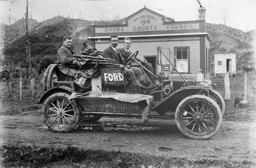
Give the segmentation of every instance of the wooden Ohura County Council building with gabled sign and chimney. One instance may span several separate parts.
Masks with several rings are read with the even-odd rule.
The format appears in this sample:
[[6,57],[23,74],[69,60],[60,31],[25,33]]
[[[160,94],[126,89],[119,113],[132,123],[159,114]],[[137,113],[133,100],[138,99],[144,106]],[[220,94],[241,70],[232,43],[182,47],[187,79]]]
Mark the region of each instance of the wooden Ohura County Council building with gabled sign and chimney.
[[[177,57],[170,55],[172,64],[179,72],[210,73],[210,39],[205,32],[205,8],[199,8],[199,20],[178,21],[165,17],[146,6],[127,17],[121,25],[91,25],[92,47],[103,51],[109,44],[109,37],[119,37],[117,48],[123,47],[123,39],[132,39],[130,51],[139,50],[140,59],[152,63],[155,74],[161,72],[157,64],[157,47],[170,48]],[[180,65],[178,64],[180,62]],[[172,67],[170,67],[172,69]]]

